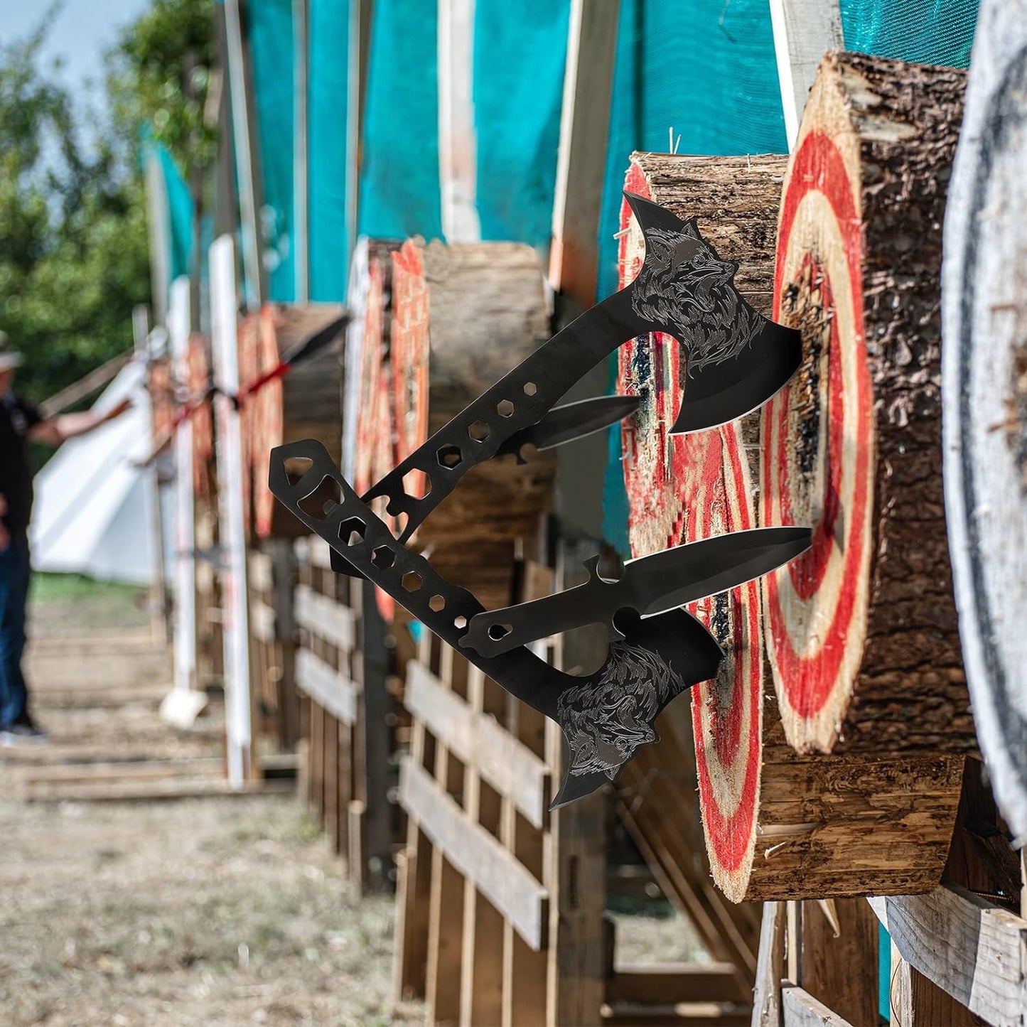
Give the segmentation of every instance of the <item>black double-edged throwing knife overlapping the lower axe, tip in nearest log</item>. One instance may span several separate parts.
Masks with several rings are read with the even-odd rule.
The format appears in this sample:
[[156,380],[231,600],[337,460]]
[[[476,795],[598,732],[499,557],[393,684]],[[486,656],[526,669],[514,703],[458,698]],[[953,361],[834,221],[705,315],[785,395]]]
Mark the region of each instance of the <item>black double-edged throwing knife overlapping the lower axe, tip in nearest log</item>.
[[480,613],[471,618],[460,645],[483,656],[498,656],[584,624],[605,624],[610,641],[620,641],[620,611],[650,617],[733,588],[798,557],[811,539],[809,528],[732,532],[630,560],[619,580],[602,577],[599,557],[594,557],[585,563],[584,584]]

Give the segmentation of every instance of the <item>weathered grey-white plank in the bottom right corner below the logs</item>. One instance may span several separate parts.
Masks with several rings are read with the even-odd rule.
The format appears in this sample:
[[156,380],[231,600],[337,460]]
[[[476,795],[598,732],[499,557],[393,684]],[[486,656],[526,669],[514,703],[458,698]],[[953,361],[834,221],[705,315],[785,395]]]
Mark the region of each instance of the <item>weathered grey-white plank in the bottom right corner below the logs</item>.
[[1027,920],[957,884],[869,899],[902,958],[989,1023],[1027,1009]]

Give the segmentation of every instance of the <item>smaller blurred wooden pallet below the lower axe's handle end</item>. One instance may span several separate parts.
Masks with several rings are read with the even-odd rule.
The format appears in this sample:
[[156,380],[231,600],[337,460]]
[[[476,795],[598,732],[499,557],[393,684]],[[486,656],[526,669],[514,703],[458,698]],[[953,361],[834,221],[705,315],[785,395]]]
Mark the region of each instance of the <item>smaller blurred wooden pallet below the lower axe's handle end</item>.
[[320,539],[297,540],[296,554],[301,777],[311,808],[346,861],[351,887],[362,895],[386,884],[392,862],[384,640],[373,601],[365,602],[366,582],[336,574]]

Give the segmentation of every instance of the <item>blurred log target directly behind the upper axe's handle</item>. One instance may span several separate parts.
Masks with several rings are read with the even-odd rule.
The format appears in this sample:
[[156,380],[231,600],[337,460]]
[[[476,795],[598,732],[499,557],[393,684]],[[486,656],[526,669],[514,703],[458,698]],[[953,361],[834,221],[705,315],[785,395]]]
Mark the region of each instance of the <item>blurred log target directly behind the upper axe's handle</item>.
[[[392,255],[395,460],[406,459],[547,337],[542,276],[530,246],[405,242]],[[551,455],[539,454],[527,464],[506,457],[473,468],[418,529],[415,543],[430,553],[441,574],[485,606],[505,605],[515,540],[536,536],[549,508],[554,466]],[[407,492],[424,495],[425,476],[412,476]]]

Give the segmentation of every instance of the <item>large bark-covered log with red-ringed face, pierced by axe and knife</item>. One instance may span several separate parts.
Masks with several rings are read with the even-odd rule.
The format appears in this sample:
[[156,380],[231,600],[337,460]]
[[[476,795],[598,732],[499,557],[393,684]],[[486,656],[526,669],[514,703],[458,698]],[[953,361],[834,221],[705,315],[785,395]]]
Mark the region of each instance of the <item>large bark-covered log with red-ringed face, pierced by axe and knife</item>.
[[766,579],[785,733],[803,753],[977,743],[941,477],[941,224],[962,72],[831,53],[785,183],[774,316],[804,362],[764,409],[762,521],[814,526]]

